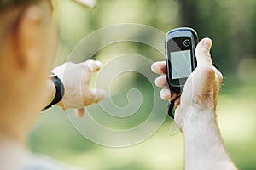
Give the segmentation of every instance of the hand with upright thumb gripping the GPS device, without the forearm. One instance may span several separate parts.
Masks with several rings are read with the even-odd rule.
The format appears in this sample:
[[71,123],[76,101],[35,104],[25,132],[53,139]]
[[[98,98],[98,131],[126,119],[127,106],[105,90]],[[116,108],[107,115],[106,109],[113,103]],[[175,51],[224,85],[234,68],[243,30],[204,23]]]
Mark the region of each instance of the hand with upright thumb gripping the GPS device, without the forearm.
[[[192,112],[211,111],[214,118],[218,98],[218,91],[222,82],[222,74],[212,65],[210,49],[212,41],[204,38],[195,48],[197,67],[191,73],[180,99],[175,101],[175,122],[182,128],[185,121],[189,121]],[[166,82],[166,61],[155,62],[152,71],[160,74],[156,78],[155,85],[161,87],[160,97],[164,100],[172,100],[177,97],[171,92]],[[188,119],[188,120],[187,120]]]

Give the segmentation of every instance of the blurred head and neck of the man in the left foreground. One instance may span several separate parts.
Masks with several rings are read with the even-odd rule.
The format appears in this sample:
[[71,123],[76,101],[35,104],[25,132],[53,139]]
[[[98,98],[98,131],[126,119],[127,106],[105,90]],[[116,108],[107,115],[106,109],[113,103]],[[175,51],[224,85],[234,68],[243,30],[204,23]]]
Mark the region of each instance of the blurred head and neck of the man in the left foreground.
[[0,133],[22,139],[43,105],[55,55],[52,6],[48,0],[0,3]]

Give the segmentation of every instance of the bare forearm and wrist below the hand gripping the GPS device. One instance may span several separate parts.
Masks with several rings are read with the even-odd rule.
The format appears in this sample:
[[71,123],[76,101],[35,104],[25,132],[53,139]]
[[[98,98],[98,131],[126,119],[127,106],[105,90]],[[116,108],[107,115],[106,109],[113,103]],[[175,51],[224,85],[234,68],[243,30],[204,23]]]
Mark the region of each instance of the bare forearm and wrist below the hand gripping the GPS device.
[[224,149],[214,111],[190,111],[183,124],[186,170],[235,170]]

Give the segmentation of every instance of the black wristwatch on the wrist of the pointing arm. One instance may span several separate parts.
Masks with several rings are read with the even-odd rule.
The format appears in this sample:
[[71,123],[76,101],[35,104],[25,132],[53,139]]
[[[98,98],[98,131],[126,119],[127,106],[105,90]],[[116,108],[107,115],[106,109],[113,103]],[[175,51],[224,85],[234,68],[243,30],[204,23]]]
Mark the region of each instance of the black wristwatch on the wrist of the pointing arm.
[[51,74],[49,76],[49,78],[55,84],[55,89],[56,89],[55,90],[55,98],[52,100],[52,102],[49,105],[44,107],[44,110],[49,109],[52,105],[59,103],[65,94],[64,85],[61,82],[61,79],[59,77],[57,77],[57,75],[55,75],[55,74]]

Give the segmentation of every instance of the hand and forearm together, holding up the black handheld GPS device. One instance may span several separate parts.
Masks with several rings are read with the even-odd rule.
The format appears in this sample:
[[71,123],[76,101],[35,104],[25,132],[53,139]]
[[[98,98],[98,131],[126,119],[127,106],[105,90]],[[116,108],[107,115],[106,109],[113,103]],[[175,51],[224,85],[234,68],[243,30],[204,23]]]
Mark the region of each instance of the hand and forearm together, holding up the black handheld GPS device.
[[[175,102],[175,122],[184,136],[185,169],[235,170],[236,167],[224,149],[216,122],[218,90],[221,73],[212,66],[212,41],[202,39],[195,49],[197,68],[188,78],[180,99]],[[160,97],[173,100],[166,82],[166,62],[156,62],[152,71],[160,74],[155,85],[161,87]]]

